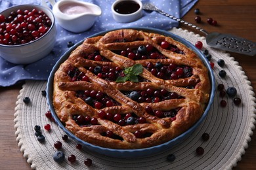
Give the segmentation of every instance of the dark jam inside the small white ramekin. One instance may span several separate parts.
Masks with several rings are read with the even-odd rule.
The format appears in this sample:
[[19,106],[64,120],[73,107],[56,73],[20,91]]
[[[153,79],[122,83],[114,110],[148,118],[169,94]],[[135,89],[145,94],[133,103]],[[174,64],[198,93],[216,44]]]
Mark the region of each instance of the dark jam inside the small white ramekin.
[[119,14],[131,14],[139,9],[140,5],[135,1],[121,1],[114,7],[114,10]]

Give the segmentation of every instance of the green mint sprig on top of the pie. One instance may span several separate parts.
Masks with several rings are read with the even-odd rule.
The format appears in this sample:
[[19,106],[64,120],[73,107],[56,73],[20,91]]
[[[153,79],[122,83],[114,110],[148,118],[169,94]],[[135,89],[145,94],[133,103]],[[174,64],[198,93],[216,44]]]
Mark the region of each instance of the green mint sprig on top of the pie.
[[142,71],[143,67],[140,64],[135,64],[132,67],[127,67],[123,71],[123,73],[125,73],[125,76],[118,76],[116,82],[139,82],[138,76],[140,75],[140,73],[142,73]]

